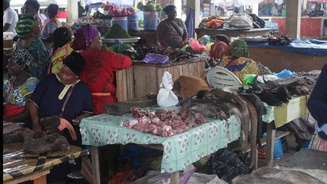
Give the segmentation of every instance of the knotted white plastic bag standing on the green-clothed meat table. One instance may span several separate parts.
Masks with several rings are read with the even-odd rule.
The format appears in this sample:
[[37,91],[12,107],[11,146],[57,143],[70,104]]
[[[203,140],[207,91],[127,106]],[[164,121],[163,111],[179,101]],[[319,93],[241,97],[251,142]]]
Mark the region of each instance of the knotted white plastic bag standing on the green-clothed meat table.
[[165,71],[163,74],[163,82],[160,84],[161,88],[157,95],[157,104],[160,107],[169,107],[177,105],[178,98],[177,96],[171,91],[173,89],[173,79],[169,72]]

